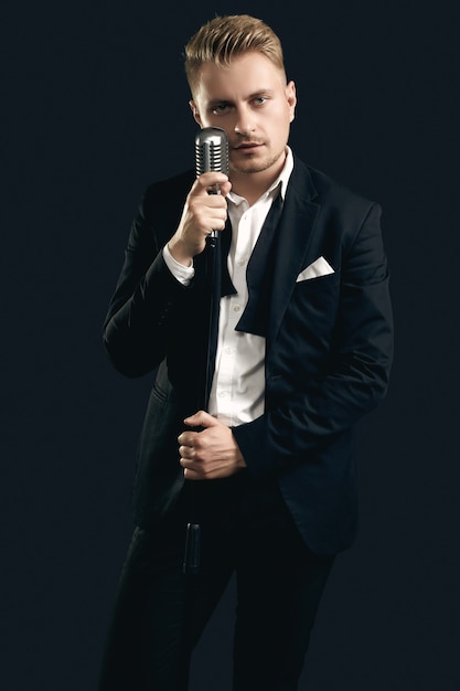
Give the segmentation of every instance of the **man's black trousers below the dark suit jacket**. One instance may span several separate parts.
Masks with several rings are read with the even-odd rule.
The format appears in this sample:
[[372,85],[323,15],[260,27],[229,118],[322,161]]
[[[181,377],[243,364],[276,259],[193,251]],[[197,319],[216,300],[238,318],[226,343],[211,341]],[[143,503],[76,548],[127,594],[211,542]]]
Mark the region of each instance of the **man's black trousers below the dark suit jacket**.
[[191,650],[234,570],[233,689],[295,691],[334,557],[307,548],[275,483],[255,483],[243,472],[193,485],[200,485],[192,488],[200,573],[183,574],[185,517],[161,531],[135,530],[99,691],[185,691]]

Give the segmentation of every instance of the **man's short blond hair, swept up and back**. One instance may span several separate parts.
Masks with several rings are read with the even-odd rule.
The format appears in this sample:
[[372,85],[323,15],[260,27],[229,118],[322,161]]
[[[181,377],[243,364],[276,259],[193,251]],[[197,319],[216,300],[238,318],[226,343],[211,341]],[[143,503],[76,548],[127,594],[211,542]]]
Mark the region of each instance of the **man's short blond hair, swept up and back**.
[[260,19],[229,14],[203,24],[185,45],[185,74],[192,94],[196,91],[203,63],[225,67],[234,57],[248,52],[268,57],[286,78],[281,42]]

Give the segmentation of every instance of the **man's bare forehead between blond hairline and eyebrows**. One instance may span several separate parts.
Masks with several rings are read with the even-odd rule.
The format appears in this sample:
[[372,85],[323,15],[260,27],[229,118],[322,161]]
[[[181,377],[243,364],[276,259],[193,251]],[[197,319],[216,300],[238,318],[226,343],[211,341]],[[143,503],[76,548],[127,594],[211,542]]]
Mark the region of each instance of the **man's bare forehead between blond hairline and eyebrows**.
[[200,68],[195,96],[200,99],[232,99],[260,91],[284,91],[284,71],[261,53],[245,53],[229,65],[204,63]]

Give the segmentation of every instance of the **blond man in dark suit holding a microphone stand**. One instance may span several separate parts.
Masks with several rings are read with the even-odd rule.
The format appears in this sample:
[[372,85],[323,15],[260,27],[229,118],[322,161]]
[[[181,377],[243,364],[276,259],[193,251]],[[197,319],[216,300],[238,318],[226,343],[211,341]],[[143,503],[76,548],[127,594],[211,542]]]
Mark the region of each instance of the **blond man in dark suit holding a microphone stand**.
[[[295,690],[334,555],[355,534],[353,427],[387,386],[379,206],[293,156],[296,88],[264,22],[212,20],[185,68],[193,117],[227,132],[231,170],[148,188],[108,310],[115,366],[158,371],[99,689],[186,688],[190,650],[236,570],[233,688]],[[196,519],[201,565],[189,576]]]

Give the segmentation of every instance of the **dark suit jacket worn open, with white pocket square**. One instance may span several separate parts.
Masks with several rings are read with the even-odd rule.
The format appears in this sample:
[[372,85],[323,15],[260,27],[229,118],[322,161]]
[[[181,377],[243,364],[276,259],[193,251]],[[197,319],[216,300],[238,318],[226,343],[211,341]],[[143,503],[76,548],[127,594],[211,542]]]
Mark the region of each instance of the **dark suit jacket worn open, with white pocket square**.
[[[184,287],[161,252],[193,179],[189,171],[147,189],[104,330],[120,372],[139,376],[158,368],[133,491],[135,520],[145,528],[168,517],[178,501],[184,480],[176,437],[202,389],[205,254],[195,257],[195,278]],[[387,387],[393,327],[379,217],[378,204],[296,158],[276,233],[270,295],[266,281],[260,295],[264,281],[255,279],[264,257],[252,259],[249,301],[237,327],[252,331],[260,300],[269,299],[265,413],[234,435],[247,472],[276,478],[306,542],[319,553],[336,553],[354,539],[353,428]],[[319,257],[333,273],[299,279]]]

